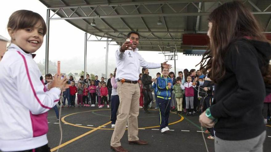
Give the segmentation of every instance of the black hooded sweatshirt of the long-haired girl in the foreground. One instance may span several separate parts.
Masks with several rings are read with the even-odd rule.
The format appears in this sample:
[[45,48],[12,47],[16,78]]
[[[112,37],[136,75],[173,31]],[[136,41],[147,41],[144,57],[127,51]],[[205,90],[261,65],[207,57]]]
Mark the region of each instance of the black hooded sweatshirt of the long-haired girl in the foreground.
[[271,58],[267,42],[240,39],[229,46],[224,58],[225,76],[215,86],[211,115],[218,119],[216,136],[223,140],[245,140],[265,131],[262,116],[265,85],[261,67]]

